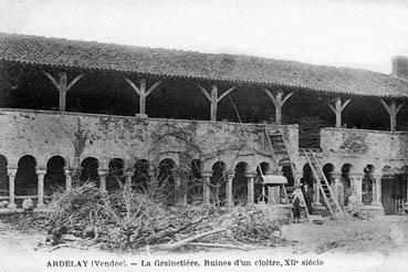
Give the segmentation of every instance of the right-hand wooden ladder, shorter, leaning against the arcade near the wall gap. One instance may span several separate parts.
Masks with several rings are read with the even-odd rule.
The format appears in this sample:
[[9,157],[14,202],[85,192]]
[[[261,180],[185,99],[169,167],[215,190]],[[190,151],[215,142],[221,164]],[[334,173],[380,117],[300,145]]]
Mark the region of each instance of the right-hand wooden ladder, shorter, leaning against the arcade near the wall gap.
[[313,176],[317,182],[318,190],[322,192],[324,202],[332,217],[343,216],[343,211],[338,205],[337,198],[334,196],[332,188],[323,172],[323,168],[317,160],[316,155],[311,149],[303,149],[307,164],[310,165]]

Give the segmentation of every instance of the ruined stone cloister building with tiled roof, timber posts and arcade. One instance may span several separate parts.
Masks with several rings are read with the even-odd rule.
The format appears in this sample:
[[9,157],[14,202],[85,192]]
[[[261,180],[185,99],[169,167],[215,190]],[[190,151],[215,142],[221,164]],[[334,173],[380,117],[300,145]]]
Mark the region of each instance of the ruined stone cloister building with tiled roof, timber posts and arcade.
[[[114,174],[148,189],[180,167],[190,175],[171,181],[169,205],[211,202],[215,193],[224,206],[257,203],[262,174],[273,174],[287,188],[313,187],[318,209],[307,149],[335,196],[348,190],[376,215],[404,212],[408,59],[393,61],[386,75],[2,33],[1,209],[24,198],[43,209],[54,187],[79,180],[111,190]],[[287,157],[270,135],[281,136]],[[198,186],[180,192],[189,180]],[[279,189],[268,195],[271,206],[284,205]]]

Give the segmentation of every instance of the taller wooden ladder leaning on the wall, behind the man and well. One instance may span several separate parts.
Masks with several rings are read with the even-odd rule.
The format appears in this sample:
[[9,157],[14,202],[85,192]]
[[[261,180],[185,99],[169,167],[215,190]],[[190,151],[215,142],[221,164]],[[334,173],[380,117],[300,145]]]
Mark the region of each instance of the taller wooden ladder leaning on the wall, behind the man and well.
[[[283,135],[281,132],[279,133],[273,133],[270,134],[268,133],[268,128],[265,127],[265,136],[268,138],[269,142],[269,146],[270,146],[270,150],[271,150],[271,155],[272,158],[275,163],[275,165],[279,166],[290,166],[291,170],[292,170],[292,175],[293,178],[296,178],[296,170],[294,168],[294,165],[292,164],[292,159],[291,156],[287,151],[287,144],[286,140],[284,139]],[[296,182],[296,181],[295,181]],[[293,202],[293,198],[291,198],[287,192],[286,192],[286,187],[284,185],[282,185],[282,191],[283,191],[283,196],[285,198],[286,203],[291,203]],[[305,215],[306,218],[308,218],[308,209],[306,206],[306,201],[304,199],[303,193],[302,196],[302,202],[303,202],[303,215]]]

